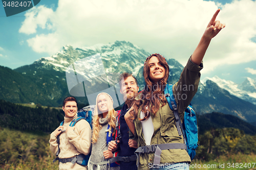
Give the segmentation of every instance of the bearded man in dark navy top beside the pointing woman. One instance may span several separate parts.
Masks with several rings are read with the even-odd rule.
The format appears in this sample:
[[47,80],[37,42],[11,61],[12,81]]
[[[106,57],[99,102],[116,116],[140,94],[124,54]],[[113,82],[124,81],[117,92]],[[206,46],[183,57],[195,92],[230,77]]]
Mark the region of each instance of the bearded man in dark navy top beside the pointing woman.
[[[124,72],[121,75],[121,79],[123,78],[124,81],[120,81],[120,92],[123,94],[123,99],[125,104],[123,105],[120,117],[119,117],[119,124],[120,124],[120,133],[121,139],[111,141],[109,143],[109,151],[119,151],[119,160],[120,160],[120,170],[137,170],[136,166],[136,155],[134,152],[138,148],[138,144],[135,140],[129,138],[129,127],[127,126],[124,115],[125,113],[132,107],[134,99],[138,95],[139,87],[137,84],[137,80],[132,74]],[[131,157],[132,156],[132,157]],[[128,159],[125,157],[129,157]]]

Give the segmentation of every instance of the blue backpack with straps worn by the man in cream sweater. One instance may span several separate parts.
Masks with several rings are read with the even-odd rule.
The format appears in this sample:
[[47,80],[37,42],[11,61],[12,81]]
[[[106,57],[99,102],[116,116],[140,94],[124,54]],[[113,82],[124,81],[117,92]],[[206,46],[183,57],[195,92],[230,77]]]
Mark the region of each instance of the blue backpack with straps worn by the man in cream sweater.
[[[92,116],[93,116],[92,113],[93,113],[93,111],[94,111],[94,105],[90,105],[90,106],[87,106],[87,107],[84,107],[84,108],[80,109],[79,111],[77,111],[77,117],[71,121],[69,126],[73,127],[73,126],[75,126],[75,124],[77,122],[79,122],[82,119],[85,119],[85,120],[87,120],[87,122],[90,124],[90,126],[92,128]],[[64,123],[64,120],[60,123],[60,126],[62,126],[63,123]],[[62,132],[65,132],[65,131],[62,131]],[[59,149],[59,141],[60,141],[59,140],[59,135],[57,136],[58,151],[56,153],[56,156],[58,156],[59,152],[60,152],[60,149]],[[78,163],[80,165],[87,165],[88,161],[89,161],[89,158],[90,158],[90,155],[91,155],[91,153],[89,153],[88,155],[80,154],[80,155],[74,156],[72,158],[65,158],[65,159],[60,159],[60,158],[57,157],[53,160],[53,163],[56,160],[58,160],[59,162],[62,162],[62,163],[71,162],[73,164]]]

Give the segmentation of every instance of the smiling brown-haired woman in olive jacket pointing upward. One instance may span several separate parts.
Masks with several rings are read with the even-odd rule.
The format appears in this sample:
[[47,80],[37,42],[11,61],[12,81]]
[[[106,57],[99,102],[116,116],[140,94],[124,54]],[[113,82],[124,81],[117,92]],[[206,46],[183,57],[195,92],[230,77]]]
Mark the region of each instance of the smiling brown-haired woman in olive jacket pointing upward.
[[[211,39],[225,28],[225,23],[216,20],[219,12],[220,9],[212,16],[196,50],[189,57],[179,81],[170,89],[177,106],[174,102],[169,105],[165,96],[170,94],[164,94],[169,76],[166,59],[160,54],[152,54],[146,58],[143,67],[146,86],[124,116],[138,142],[138,149],[135,151],[138,169],[152,168],[148,166],[150,164],[158,165],[157,167],[160,167],[158,170],[189,169],[188,163],[193,157],[190,158],[187,153],[187,142],[183,139],[180,130],[181,122],[185,109],[197,92],[200,70],[203,68],[202,60],[208,45]],[[179,89],[180,86],[193,88]],[[166,164],[172,164],[175,168],[164,166]]]

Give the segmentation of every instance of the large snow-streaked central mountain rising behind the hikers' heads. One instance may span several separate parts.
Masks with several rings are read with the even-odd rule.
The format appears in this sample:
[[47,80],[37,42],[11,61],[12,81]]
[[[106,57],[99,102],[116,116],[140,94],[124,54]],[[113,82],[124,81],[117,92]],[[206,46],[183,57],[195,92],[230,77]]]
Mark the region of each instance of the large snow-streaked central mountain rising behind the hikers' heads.
[[[100,55],[100,62],[95,62],[96,58],[92,57],[97,54]],[[83,74],[84,77],[93,75],[95,72],[90,71],[96,69],[98,71],[97,75],[106,74],[108,75],[108,80],[112,79],[115,73],[131,72],[137,78],[140,89],[143,89],[143,64],[149,55],[142,48],[126,41],[115,41],[114,43],[96,44],[75,49],[71,45],[66,45],[55,55],[42,57],[33,64],[16,68],[15,71],[30,76],[42,89],[47,89],[45,93],[47,93],[46,97],[49,100],[56,100],[60,99],[61,95],[69,95],[70,91],[67,87],[68,78],[66,75],[67,68],[71,68],[72,70],[75,68],[76,75]],[[88,60],[90,57],[92,58]],[[174,84],[179,80],[183,66],[175,59],[169,59],[167,62],[170,67],[168,82],[169,84]],[[102,68],[100,65],[103,65],[103,69],[99,69]],[[104,82],[105,79],[103,76],[97,76],[91,79],[89,83],[85,83],[84,86],[93,86],[98,89],[106,85]],[[72,83],[77,83],[76,79]],[[81,102],[84,103],[84,101]]]

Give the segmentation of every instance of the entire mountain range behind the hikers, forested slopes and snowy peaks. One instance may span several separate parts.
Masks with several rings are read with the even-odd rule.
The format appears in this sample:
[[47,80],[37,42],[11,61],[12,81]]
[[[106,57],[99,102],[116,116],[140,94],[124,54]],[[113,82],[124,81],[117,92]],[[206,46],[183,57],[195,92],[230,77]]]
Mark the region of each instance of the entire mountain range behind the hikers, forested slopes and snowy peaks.
[[[100,54],[101,62],[81,64],[89,56]],[[99,75],[113,77],[113,73],[132,72],[143,88],[143,63],[150,54],[142,48],[126,41],[115,41],[108,44],[97,44],[90,47],[73,48],[63,46],[60,52],[50,57],[43,57],[33,64],[18,67],[14,70],[0,66],[0,99],[13,103],[40,103],[45,106],[59,106],[62,100],[70,95],[67,85],[67,68],[72,68],[79,80],[79,70],[84,76],[100,66],[104,71]],[[80,69],[77,69],[76,65]],[[183,66],[175,59],[168,59],[169,84],[179,80]],[[100,65],[101,64],[101,65]],[[98,89],[105,84],[102,75],[92,79],[88,85]],[[81,81],[80,81],[81,82]],[[78,83],[78,82],[77,82]],[[82,84],[81,84],[82,85]],[[83,83],[86,87],[86,83]],[[247,122],[256,122],[256,83],[247,78],[242,84],[221,80],[218,77],[207,78],[199,85],[192,103],[196,112],[222,112],[242,118]],[[85,88],[88,94],[87,88]],[[87,96],[77,97],[79,103],[88,104]],[[82,97],[83,96],[83,97]]]

